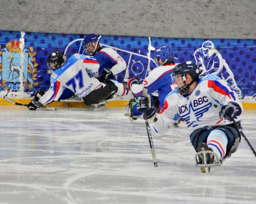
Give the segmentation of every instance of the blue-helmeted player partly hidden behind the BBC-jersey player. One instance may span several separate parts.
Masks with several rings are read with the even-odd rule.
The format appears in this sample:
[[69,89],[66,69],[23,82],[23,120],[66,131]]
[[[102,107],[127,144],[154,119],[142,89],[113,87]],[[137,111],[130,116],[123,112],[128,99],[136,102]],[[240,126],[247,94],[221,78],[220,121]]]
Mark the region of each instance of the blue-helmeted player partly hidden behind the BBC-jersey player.
[[[127,89],[132,92],[135,98],[142,95],[144,87],[148,88],[148,94],[158,91],[158,96],[152,96],[152,101],[156,112],[159,113],[163,107],[164,98],[169,94],[172,89],[172,69],[176,66],[173,62],[173,51],[170,46],[163,46],[156,49],[154,53],[154,60],[157,62],[158,67],[149,72],[148,76],[142,82],[136,78],[131,78],[127,82]],[[127,112],[129,113],[130,120],[136,120],[138,115],[142,115],[137,109],[136,99],[131,99],[129,104],[126,105]]]

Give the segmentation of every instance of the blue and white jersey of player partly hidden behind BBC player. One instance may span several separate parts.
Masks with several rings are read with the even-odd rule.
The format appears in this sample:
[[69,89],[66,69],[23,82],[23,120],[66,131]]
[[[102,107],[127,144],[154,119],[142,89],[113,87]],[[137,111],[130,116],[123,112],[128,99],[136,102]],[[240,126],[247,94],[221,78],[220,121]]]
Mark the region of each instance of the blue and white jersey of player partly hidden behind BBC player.
[[154,91],[158,91],[158,99],[160,108],[163,107],[163,101],[172,89],[172,69],[177,64],[168,64],[154,68],[149,72],[148,76],[142,82],[142,84],[132,84],[131,91],[136,98],[142,95],[144,87],[148,88],[148,93],[151,94]]

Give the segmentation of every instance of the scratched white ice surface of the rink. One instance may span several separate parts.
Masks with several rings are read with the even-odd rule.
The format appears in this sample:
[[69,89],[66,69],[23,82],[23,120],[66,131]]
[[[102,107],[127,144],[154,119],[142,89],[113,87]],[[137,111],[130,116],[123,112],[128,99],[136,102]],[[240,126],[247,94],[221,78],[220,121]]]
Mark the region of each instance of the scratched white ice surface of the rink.
[[[239,150],[205,175],[184,123],[152,133],[124,108],[56,112],[0,106],[0,203],[255,203],[256,157]],[[256,110],[243,132],[254,149]]]

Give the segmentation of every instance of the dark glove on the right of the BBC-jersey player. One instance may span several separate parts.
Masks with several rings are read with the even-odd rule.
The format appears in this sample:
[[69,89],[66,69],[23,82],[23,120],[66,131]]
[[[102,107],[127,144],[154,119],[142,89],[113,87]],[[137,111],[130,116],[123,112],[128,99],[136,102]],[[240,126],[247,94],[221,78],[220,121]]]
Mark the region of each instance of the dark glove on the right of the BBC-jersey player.
[[237,118],[238,115],[242,113],[240,106],[237,103],[230,103],[223,105],[220,110],[220,118],[226,118],[231,120],[231,118]]

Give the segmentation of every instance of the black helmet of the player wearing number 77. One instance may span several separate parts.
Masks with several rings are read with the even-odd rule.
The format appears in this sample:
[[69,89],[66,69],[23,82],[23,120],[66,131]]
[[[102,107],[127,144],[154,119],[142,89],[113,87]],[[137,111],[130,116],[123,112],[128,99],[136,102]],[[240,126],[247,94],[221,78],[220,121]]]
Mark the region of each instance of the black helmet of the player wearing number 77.
[[[64,53],[60,52],[59,50],[54,50],[51,52],[47,58],[47,67],[52,70],[56,70],[57,66],[61,66],[63,62],[66,61],[66,55]],[[57,62],[57,65],[55,65],[55,62]]]

